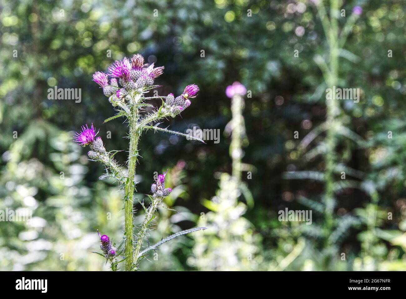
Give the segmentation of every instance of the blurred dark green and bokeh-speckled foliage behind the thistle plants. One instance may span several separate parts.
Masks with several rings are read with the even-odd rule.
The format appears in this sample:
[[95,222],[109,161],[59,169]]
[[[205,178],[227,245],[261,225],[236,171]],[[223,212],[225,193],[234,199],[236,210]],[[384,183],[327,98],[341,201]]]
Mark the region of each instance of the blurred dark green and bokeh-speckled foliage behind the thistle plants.
[[[313,58],[325,56],[328,47],[314,2],[1,0],[0,210],[29,208],[33,217],[30,223],[0,222],[0,270],[108,269],[90,251],[99,247],[97,229],[120,241],[122,194],[113,182],[98,180],[102,167],[90,163],[72,139],[82,124],[93,122],[108,150],[127,149],[125,124],[103,124],[113,111],[91,76],[137,52],[165,66],[158,93],[179,94],[191,83],[201,88],[181,118],[165,122],[174,130],[198,126],[225,132],[231,119],[225,88],[238,80],[251,91],[245,101],[243,161],[256,171],[251,179],[246,172],[242,178],[254,206],[242,213],[241,228],[250,227],[244,250],[254,257],[253,262],[233,260],[233,269],[405,270],[405,3],[340,3],[346,10],[340,28],[354,6],[363,8],[344,47],[348,52],[339,59],[344,87],[361,89],[359,103],[339,103],[340,122],[359,137],[339,139],[335,148],[337,165],[350,167],[347,176],[357,184],[337,188],[336,225],[326,246],[320,238],[324,219],[317,213],[323,182],[283,177],[286,171],[323,172],[326,163],[317,157],[323,133],[313,141],[313,156],[298,147],[326,119],[326,87]],[[54,86],[80,88],[81,102],[49,100],[48,88]],[[227,134],[218,144],[153,132],[143,137],[137,196],[145,197],[155,171],[169,169],[174,191],[165,204],[177,211],[160,210],[151,242],[195,226],[209,211],[206,199],[230,195],[225,191],[229,145]],[[125,152],[116,157],[123,161]],[[223,173],[220,187],[215,173]],[[313,225],[278,221],[279,210],[309,206]],[[158,260],[150,258],[142,268],[225,269],[210,268],[215,260],[203,266],[194,262],[199,238],[204,232],[166,243]],[[227,257],[227,242],[220,236],[205,246]]]

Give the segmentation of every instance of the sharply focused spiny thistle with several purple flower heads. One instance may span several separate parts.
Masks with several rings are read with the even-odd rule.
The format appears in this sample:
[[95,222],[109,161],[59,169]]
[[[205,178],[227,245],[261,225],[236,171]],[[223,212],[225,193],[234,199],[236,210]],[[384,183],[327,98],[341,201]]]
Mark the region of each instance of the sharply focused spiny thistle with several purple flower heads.
[[[148,231],[151,230],[153,220],[156,218],[155,212],[162,203],[162,200],[168,196],[172,189],[165,188],[165,176],[163,173],[158,176],[151,186],[152,195],[147,195],[150,199],[150,205],[145,206],[140,202],[145,210],[145,219],[141,223],[138,232],[134,237],[134,191],[136,191],[136,182],[134,180],[136,174],[136,165],[140,154],[138,152],[138,143],[143,132],[147,130],[163,131],[170,134],[178,134],[186,137],[186,134],[161,128],[159,121],[168,117],[176,117],[191,104],[191,99],[197,96],[199,87],[195,84],[188,85],[184,92],[177,96],[170,93],[167,96],[152,96],[146,97],[145,94],[152,89],[158,87],[154,85],[154,80],[162,75],[164,67],[154,67],[154,64],[145,65],[144,58],[140,54],[135,54],[131,59],[123,58],[121,61],[116,61],[109,67],[109,74],[96,72],[93,75],[95,81],[103,89],[103,93],[108,97],[108,101],[112,104],[117,113],[106,119],[104,122],[111,121],[119,117],[124,117],[128,124],[128,139],[129,150],[126,167],[120,165],[114,160],[114,155],[118,150],[107,151],[101,137],[96,137],[97,133],[93,124],[90,128],[82,126],[81,132],[76,133],[75,140],[82,146],[89,145],[90,151],[88,156],[91,160],[97,161],[106,167],[106,173],[100,176],[100,179],[114,178],[124,191],[124,237],[123,242],[116,249],[111,244],[110,239],[106,235],[100,236],[100,248],[106,258],[106,262],[110,262],[111,269],[116,271],[118,264],[125,261],[125,271],[138,270],[139,264],[147,253],[155,250],[163,243],[172,240],[177,236],[188,234],[205,228],[192,228],[173,234],[155,245],[144,247]],[[110,82],[108,77],[111,77]],[[159,99],[162,104],[158,108],[154,108],[152,104],[147,103],[148,100]],[[152,112],[146,113],[145,108],[151,107]],[[192,137],[191,139],[202,141],[201,139]],[[203,142],[203,141],[202,141]],[[122,249],[122,246],[124,248]],[[122,259],[119,255],[124,253]]]

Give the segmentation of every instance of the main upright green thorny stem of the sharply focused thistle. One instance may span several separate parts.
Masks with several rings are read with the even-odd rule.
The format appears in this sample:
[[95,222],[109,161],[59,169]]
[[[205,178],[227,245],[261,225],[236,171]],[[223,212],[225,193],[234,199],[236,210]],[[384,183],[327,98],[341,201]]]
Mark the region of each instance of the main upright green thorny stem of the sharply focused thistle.
[[[136,95],[134,102],[136,103],[140,95]],[[138,140],[140,133],[136,128],[138,120],[138,108],[131,107],[130,114],[130,150],[128,153],[128,176],[125,182],[125,204],[124,204],[124,217],[125,217],[125,271],[131,271],[133,266],[133,197],[134,197],[134,176],[135,168],[138,159]]]

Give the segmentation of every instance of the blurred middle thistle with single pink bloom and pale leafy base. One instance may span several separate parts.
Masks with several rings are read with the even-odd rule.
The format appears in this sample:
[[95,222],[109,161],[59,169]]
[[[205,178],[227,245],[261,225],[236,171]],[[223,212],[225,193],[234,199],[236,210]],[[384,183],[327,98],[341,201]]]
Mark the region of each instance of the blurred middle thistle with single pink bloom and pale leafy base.
[[259,236],[253,233],[253,225],[243,216],[246,204],[238,201],[243,194],[248,205],[253,205],[252,195],[242,182],[242,171],[253,170],[251,165],[242,163],[242,140],[246,140],[242,115],[245,93],[246,88],[240,82],[226,89],[226,95],[231,98],[232,174],[219,174],[216,196],[204,202],[211,211],[199,218],[198,224],[207,226],[208,230],[205,236],[195,237],[194,256],[188,262],[203,271],[249,271],[259,267],[256,258]]

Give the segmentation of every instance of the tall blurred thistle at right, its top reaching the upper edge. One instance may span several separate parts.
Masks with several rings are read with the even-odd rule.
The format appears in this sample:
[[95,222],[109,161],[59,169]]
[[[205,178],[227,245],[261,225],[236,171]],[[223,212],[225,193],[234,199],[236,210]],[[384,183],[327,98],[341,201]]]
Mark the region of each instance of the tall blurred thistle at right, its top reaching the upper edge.
[[[333,88],[336,85],[346,85],[345,74],[342,74],[340,69],[340,58],[347,58],[352,62],[358,59],[358,56],[344,47],[356,20],[362,13],[362,8],[355,6],[352,9],[352,14],[346,20],[341,15],[341,3],[339,1],[318,0],[312,2],[315,4],[326,37],[326,54],[316,54],[313,58],[324,79],[320,87],[324,89],[324,87]],[[329,12],[325,3],[329,3]],[[340,27],[341,20],[346,20],[342,28]],[[351,158],[352,149],[348,148],[348,140],[353,141],[360,148],[367,145],[365,140],[348,128],[350,126],[349,119],[339,100],[335,97],[326,100],[326,121],[307,134],[299,145],[299,150],[304,154],[305,159],[312,160],[317,156],[322,158],[325,165],[324,173],[319,171],[290,171],[284,175],[287,179],[315,179],[324,183],[321,203],[305,197],[301,197],[300,202],[323,215],[322,229],[313,226],[315,229],[309,228],[308,231],[312,230],[313,235],[315,234],[323,240],[324,248],[319,260],[322,260],[326,267],[329,267],[331,261],[337,256],[339,239],[348,232],[350,227],[359,223],[358,219],[350,215],[340,218],[335,215],[335,208],[338,205],[337,193],[346,188],[359,188],[365,191],[363,185],[359,184],[358,181],[345,179],[345,173],[354,178],[363,178],[361,171],[352,169],[345,164]],[[319,138],[318,145],[306,153],[310,143],[320,135],[322,136],[323,133],[325,133],[325,137]],[[344,147],[345,150],[340,151],[340,146]],[[337,173],[341,174],[341,180],[337,180]]]

